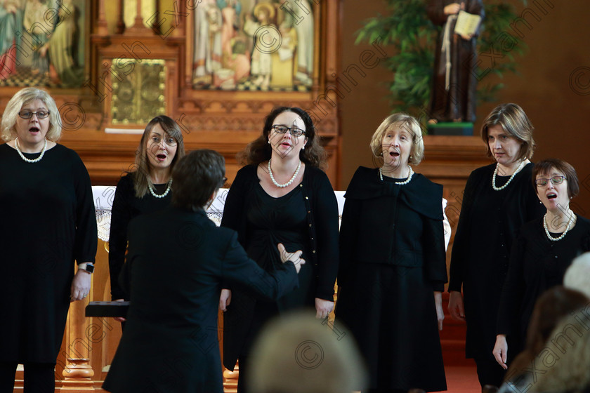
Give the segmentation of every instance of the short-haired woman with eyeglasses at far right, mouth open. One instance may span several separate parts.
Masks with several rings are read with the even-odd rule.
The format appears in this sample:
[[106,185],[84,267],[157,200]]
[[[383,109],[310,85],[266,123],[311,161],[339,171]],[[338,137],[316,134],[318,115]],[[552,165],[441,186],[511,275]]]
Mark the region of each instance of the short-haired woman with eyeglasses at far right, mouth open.
[[579,192],[575,169],[560,159],[546,159],[535,164],[532,183],[546,213],[520,228],[510,256],[493,350],[505,369],[506,355],[514,357],[523,349],[539,296],[562,285],[572,260],[590,251],[590,220],[570,210],[570,200]]

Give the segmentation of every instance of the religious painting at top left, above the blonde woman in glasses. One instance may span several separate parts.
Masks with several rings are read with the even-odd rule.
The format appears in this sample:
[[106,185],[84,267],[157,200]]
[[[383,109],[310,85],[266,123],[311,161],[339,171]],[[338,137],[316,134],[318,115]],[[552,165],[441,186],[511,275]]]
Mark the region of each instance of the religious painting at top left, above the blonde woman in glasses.
[[84,0],[0,0],[0,86],[84,82]]

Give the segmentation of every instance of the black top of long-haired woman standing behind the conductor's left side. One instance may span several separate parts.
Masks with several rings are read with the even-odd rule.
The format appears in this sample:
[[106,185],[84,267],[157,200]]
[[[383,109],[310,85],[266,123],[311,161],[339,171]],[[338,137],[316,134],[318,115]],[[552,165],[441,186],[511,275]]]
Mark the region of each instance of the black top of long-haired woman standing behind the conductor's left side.
[[[148,190],[143,197],[138,198],[133,188],[134,173],[127,173],[119,180],[112,202],[109,233],[109,272],[112,300],[124,298],[124,292],[119,286],[119,273],[125,262],[129,221],[140,214],[161,211],[172,201],[172,192],[169,192],[164,198],[155,198]],[[164,194],[167,187],[167,183],[155,185],[156,194]]]

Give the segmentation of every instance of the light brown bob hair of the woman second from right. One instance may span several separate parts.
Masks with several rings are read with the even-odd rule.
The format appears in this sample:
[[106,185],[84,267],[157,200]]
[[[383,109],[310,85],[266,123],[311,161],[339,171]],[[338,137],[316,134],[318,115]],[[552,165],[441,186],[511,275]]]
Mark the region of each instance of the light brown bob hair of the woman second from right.
[[532,139],[532,131],[535,127],[532,126],[523,108],[511,103],[501,104],[487,115],[481,126],[481,139],[487,146],[488,157],[492,156],[492,150],[487,140],[487,131],[493,126],[501,126],[505,133],[522,142],[517,159],[532,159],[532,154],[537,147],[535,140]]

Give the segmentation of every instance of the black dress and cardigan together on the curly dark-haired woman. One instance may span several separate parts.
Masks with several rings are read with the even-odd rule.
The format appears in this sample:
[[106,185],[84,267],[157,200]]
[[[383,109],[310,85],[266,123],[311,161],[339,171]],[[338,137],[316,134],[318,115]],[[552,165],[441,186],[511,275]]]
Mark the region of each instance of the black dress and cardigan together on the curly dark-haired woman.
[[306,260],[299,288],[275,302],[257,300],[240,286],[225,286],[232,289],[232,300],[223,314],[223,364],[232,370],[238,357],[247,357],[265,321],[297,307],[315,307],[315,298],[334,300],[338,204],[327,176],[318,168],[306,166],[301,184],[273,198],[261,187],[256,166],[245,166],[225,200],[221,226],[237,230],[240,244],[266,272],[280,266],[280,242],[287,251],[303,251]]

